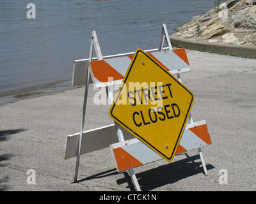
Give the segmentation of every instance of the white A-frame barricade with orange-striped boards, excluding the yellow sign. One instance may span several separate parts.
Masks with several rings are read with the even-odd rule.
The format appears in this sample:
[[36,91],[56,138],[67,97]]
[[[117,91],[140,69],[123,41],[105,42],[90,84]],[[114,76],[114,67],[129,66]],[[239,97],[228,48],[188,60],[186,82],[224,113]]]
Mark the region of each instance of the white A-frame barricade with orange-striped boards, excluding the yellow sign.
[[[165,39],[169,46],[167,48],[163,48]],[[95,50],[97,55],[95,58],[92,57],[93,50]],[[164,51],[165,54],[159,55],[160,52],[163,52],[162,50],[166,50]],[[145,52],[150,53],[152,57],[156,57],[156,59],[160,56],[161,59],[158,59],[159,62],[164,64],[169,69],[168,71],[170,71],[170,73],[176,74],[180,82],[180,73],[191,71],[184,48],[172,50],[165,24],[163,24],[162,27],[159,47],[154,50],[146,50]],[[129,172],[136,191],[140,191],[140,185],[138,184],[133,168],[163,159],[163,157],[156,154],[156,152],[141,143],[137,138],[134,138],[131,133],[119,126],[116,122],[109,126],[83,131],[88,85],[93,82],[96,87],[106,87],[108,100],[113,103],[113,90],[111,90],[111,86],[109,85],[121,84],[133,54],[134,52],[102,57],[96,32],[93,31],[89,58],[74,62],[72,85],[85,84],[80,133],[68,135],[65,143],[65,159],[77,157],[74,176],[75,182],[77,181],[80,156],[88,152],[104,149],[109,147],[109,145],[116,160],[116,169],[118,171],[127,170]],[[176,63],[175,65],[172,64],[173,57],[182,60],[179,59],[180,63]],[[84,78],[80,77],[81,73]],[[109,77],[112,80],[111,82],[109,82]],[[201,147],[211,144],[211,138],[204,120],[193,122],[191,115],[189,115],[189,120],[190,124],[186,125],[176,154],[191,149],[198,149],[205,175],[207,175]]]

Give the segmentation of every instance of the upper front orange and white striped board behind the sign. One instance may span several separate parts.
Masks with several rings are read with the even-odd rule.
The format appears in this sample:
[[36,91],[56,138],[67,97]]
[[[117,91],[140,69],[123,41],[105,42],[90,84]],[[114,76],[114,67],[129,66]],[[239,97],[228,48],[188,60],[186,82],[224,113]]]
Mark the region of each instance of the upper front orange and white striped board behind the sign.
[[[172,75],[191,71],[186,50],[184,48],[155,51],[148,54],[170,71]],[[108,86],[109,82],[113,82],[113,84],[121,84],[125,73],[129,68],[132,57],[133,55],[127,55],[91,61],[89,67],[93,83],[96,87]]]

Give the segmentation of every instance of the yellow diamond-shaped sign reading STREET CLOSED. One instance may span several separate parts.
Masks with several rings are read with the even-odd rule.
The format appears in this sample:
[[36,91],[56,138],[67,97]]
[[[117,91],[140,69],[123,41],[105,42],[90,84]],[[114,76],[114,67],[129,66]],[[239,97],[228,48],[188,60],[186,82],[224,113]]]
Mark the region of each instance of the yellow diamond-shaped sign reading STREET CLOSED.
[[167,161],[175,156],[194,96],[156,57],[136,50],[110,117]]

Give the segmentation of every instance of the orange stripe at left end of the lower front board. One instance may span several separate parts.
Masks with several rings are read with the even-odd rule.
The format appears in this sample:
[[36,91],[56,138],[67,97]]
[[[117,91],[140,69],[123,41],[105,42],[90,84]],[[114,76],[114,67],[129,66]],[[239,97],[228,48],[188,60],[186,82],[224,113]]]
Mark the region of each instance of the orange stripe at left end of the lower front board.
[[134,158],[126,152],[121,147],[118,147],[116,149],[113,149],[115,158],[116,158],[116,164],[119,171],[128,170],[130,168],[134,168],[136,166],[141,166],[143,163],[138,161],[138,159]]

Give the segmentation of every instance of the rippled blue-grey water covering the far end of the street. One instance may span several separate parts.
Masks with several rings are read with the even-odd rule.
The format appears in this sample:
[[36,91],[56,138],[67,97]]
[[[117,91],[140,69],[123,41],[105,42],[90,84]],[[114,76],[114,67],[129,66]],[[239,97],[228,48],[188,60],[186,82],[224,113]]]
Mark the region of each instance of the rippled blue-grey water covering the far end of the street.
[[[102,55],[157,48],[168,33],[214,7],[209,0],[31,0],[0,3],[0,103],[24,91],[70,87],[73,62],[88,58],[92,31]],[[40,88],[40,89],[39,89]]]

